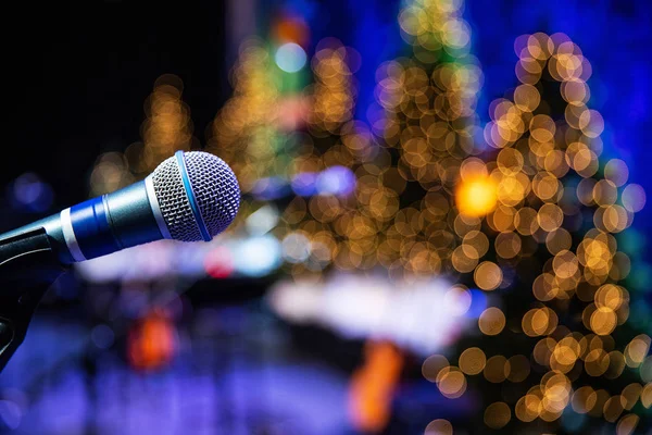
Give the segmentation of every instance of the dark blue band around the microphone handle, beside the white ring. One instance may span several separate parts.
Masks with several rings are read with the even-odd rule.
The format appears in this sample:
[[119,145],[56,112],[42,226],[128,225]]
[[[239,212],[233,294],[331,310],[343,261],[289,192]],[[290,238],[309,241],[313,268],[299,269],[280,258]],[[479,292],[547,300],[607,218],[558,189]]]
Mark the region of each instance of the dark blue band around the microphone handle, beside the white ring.
[[105,256],[122,249],[111,232],[103,197],[71,207],[71,222],[84,257]]

